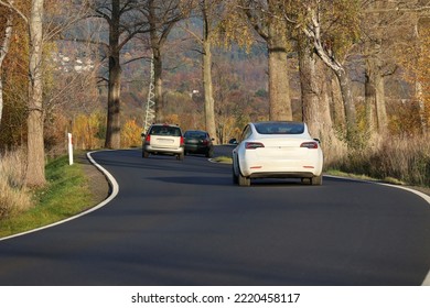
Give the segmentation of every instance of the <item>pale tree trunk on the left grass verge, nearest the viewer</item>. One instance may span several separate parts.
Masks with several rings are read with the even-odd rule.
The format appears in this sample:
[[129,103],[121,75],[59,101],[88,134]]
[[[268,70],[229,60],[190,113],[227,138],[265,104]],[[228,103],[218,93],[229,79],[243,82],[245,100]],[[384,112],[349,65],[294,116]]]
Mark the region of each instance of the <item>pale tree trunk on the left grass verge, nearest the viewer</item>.
[[28,164],[25,183],[39,187],[45,179],[45,150],[43,142],[43,0],[33,0],[30,16],[30,85],[28,116]]

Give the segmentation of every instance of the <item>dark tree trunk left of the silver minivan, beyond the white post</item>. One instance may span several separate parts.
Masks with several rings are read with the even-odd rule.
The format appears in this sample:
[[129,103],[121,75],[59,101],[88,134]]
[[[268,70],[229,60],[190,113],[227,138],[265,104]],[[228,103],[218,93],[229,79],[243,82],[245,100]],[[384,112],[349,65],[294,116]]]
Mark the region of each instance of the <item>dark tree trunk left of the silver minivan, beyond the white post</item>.
[[121,143],[120,92],[121,65],[119,59],[119,18],[120,1],[112,0],[111,21],[109,23],[109,82],[108,116],[105,147],[119,148]]

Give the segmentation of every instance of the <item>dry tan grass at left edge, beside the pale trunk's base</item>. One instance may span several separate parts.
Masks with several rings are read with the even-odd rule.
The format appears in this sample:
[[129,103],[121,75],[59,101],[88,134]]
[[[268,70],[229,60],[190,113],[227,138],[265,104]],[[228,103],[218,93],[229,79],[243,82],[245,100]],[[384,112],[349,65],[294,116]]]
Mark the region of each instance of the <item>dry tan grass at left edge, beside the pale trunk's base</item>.
[[33,206],[31,191],[24,186],[25,160],[22,151],[0,154],[0,220]]

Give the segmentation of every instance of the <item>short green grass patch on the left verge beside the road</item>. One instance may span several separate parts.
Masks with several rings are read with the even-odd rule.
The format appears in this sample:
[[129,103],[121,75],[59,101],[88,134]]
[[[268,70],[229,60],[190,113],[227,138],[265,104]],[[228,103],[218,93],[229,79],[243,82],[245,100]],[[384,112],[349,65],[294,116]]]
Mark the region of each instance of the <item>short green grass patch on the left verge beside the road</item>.
[[0,221],[0,238],[63,220],[93,206],[88,182],[78,164],[68,165],[62,156],[46,165],[47,185],[34,191],[35,206]]

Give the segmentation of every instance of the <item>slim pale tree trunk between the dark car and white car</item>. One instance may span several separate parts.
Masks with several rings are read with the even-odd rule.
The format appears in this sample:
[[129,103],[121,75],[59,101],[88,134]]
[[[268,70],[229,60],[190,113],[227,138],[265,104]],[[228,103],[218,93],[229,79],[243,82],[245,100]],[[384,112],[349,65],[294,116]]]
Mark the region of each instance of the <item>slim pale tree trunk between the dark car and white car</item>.
[[[203,42],[203,88],[205,95],[205,123],[211,138],[216,139],[215,105],[212,84],[212,51],[211,41]],[[214,141],[216,144],[216,140]]]

